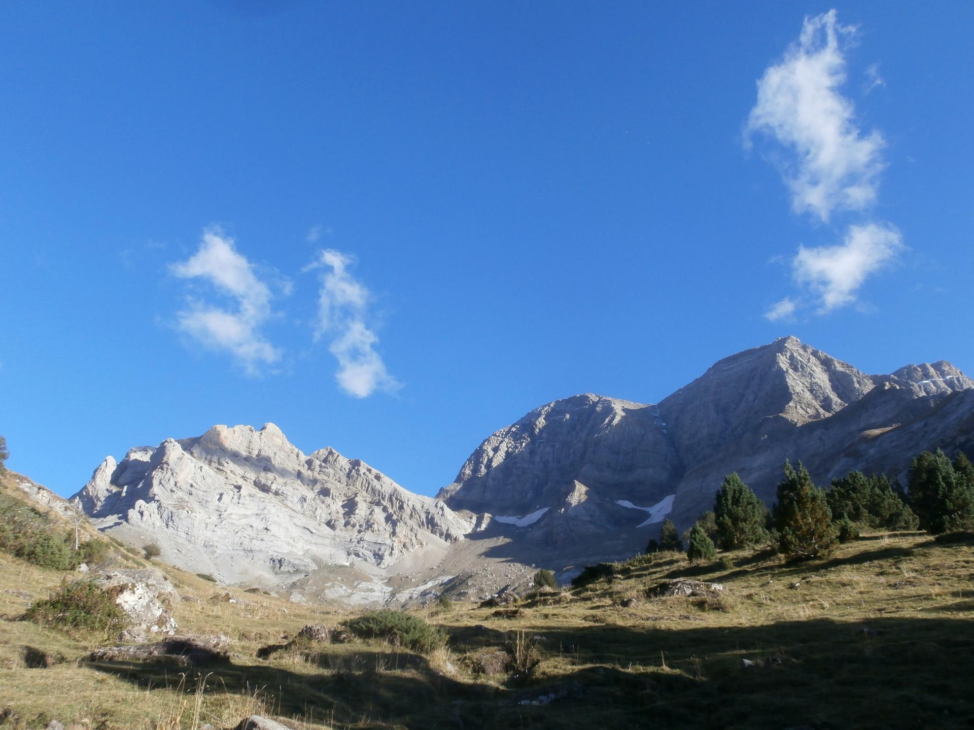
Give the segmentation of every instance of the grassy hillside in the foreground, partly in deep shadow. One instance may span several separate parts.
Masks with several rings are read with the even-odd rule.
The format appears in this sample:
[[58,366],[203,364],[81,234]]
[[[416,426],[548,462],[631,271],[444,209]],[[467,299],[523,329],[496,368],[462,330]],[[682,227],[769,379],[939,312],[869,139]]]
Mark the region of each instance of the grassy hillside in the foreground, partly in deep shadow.
[[[267,659],[258,658],[262,647],[350,615],[243,589],[230,590],[238,602],[213,600],[225,590],[157,564],[189,598],[175,606],[180,630],[232,640],[228,662],[186,670],[81,661],[103,637],[16,620],[76,575],[0,554],[0,712],[6,726],[35,728],[52,718],[85,728],[232,727],[253,711],[296,728],[974,722],[974,543],[871,534],[803,563],[721,557],[706,565],[639,557],[618,564],[612,581],[575,591],[494,608],[436,606],[420,615],[448,640],[428,654],[353,637]],[[679,577],[725,590],[648,597]],[[42,657],[56,663],[36,667]],[[482,673],[512,660],[506,671]]]

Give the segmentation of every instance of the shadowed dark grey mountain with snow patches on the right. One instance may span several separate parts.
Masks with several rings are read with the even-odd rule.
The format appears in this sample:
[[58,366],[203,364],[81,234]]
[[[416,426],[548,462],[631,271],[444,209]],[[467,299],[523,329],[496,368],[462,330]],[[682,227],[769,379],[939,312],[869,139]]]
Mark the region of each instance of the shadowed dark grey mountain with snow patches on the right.
[[551,566],[631,555],[665,515],[682,529],[712,509],[733,471],[770,504],[785,459],[825,484],[853,469],[901,476],[924,448],[970,448],[971,388],[949,363],[868,375],[783,337],[656,405],[590,394],[543,405],[481,443],[438,496],[550,548]]

